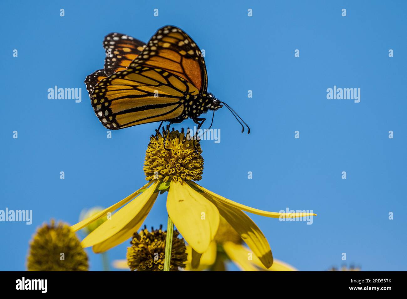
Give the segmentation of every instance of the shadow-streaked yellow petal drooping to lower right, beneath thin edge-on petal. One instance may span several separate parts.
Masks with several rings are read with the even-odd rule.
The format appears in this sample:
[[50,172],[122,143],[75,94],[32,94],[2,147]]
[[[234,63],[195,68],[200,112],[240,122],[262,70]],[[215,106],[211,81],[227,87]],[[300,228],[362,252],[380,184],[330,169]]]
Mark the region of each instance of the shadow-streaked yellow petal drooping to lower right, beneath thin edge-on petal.
[[258,256],[266,268],[273,264],[273,255],[271,253],[269,242],[258,228],[256,223],[250,219],[244,212],[226,204],[224,201],[203,193],[208,200],[212,201],[219,210],[219,213],[241,236],[243,241],[252,249],[253,253]]

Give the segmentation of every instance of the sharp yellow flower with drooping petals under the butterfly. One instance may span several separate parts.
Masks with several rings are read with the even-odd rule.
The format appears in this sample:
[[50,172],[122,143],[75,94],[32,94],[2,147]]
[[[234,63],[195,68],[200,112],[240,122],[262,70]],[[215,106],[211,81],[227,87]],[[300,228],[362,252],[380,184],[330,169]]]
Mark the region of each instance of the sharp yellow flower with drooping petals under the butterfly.
[[193,181],[201,179],[203,170],[204,160],[199,141],[195,140],[194,146],[194,140],[189,133],[184,133],[184,129],[181,132],[170,132],[165,147],[164,140],[164,129],[162,134],[157,131],[155,136],[151,136],[144,163],[144,172],[149,181],[146,185],[111,207],[72,226],[77,231],[121,207],[111,219],[82,241],[83,247],[93,246],[93,251],[100,253],[129,239],[141,227],[158,193],[167,190],[168,216],[195,253],[200,255],[208,249],[218,231],[219,216],[222,216],[262,264],[269,268],[273,264],[269,243],[243,211],[271,218],[315,215],[266,212],[215,194]]

